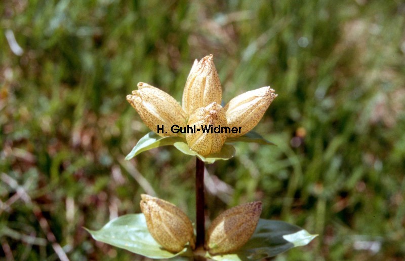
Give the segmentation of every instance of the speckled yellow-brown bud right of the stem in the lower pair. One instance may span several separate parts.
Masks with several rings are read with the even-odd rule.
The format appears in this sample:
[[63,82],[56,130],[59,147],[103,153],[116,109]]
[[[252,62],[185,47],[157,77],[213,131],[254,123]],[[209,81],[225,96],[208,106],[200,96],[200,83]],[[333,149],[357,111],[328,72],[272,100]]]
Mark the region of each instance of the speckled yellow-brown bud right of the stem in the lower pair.
[[255,232],[261,212],[262,203],[256,201],[221,213],[208,229],[206,249],[211,254],[225,254],[245,245]]

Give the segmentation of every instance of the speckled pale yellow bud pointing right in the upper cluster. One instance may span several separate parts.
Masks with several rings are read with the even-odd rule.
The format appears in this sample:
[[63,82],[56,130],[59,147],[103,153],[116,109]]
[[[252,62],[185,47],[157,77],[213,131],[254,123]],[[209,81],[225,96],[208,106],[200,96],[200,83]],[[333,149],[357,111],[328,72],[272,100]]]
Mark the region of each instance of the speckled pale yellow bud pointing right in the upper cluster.
[[228,137],[238,137],[251,131],[275,97],[277,94],[268,86],[245,92],[230,100],[224,107],[228,126],[241,127],[241,130],[240,133],[228,134]]

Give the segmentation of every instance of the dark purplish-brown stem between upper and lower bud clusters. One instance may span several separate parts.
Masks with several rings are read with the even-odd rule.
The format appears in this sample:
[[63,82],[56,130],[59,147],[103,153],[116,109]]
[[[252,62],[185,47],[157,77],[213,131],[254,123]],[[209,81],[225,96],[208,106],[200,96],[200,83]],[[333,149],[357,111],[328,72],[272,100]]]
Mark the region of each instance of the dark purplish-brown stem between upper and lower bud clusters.
[[197,236],[195,248],[204,248],[205,242],[205,198],[204,198],[204,162],[196,157],[195,163],[195,209],[197,219]]

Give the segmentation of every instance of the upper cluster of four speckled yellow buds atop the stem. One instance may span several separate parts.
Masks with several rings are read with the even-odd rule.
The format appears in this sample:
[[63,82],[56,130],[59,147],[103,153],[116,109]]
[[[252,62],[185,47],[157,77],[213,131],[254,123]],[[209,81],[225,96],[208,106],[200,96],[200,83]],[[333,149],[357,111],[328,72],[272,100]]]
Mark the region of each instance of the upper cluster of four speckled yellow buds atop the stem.
[[[127,95],[127,100],[159,136],[185,137],[191,150],[207,156],[220,152],[227,138],[251,131],[275,97],[277,94],[267,86],[238,95],[222,107],[221,83],[211,54],[194,61],[184,87],[182,106],[166,92],[145,83],[138,83],[138,90]],[[159,132],[162,126],[168,129],[174,125],[197,131]],[[203,131],[204,126],[219,127],[222,131]]]

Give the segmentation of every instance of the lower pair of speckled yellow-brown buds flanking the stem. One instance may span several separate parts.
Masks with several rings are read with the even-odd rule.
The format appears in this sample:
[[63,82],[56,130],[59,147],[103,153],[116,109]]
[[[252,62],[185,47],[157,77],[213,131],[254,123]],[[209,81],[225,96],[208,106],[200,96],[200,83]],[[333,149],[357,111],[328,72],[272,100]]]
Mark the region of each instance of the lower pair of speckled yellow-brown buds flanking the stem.
[[[152,237],[171,252],[181,251],[186,244],[195,249],[195,236],[190,219],[172,203],[141,195],[141,210]],[[207,231],[205,250],[210,254],[236,251],[246,244],[255,232],[262,203],[242,204],[228,209],[215,218]]]

